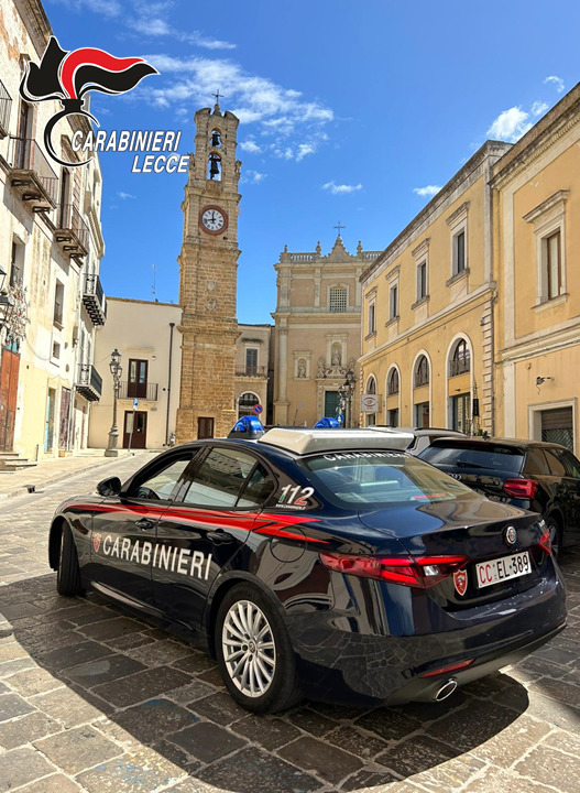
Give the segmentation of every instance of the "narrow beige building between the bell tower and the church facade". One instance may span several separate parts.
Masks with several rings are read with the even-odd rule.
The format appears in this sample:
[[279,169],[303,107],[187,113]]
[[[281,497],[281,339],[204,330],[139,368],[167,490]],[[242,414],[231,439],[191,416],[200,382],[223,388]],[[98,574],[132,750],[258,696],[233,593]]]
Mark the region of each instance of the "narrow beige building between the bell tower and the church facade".
[[[272,422],[271,371],[273,343],[271,325],[238,325],[236,341],[236,404],[238,419],[259,415],[263,424]],[[254,406],[262,412],[256,414]]]

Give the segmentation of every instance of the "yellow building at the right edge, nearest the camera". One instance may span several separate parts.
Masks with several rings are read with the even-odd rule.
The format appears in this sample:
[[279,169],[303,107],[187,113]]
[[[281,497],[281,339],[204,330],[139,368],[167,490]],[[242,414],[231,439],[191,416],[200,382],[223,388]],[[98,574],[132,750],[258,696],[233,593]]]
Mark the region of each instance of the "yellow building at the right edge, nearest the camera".
[[580,84],[493,167],[497,433],[580,449]]

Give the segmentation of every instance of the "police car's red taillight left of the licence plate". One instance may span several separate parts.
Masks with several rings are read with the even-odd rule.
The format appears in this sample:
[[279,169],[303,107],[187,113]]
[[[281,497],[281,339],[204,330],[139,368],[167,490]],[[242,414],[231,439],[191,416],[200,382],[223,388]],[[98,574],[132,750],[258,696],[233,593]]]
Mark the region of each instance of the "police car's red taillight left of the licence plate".
[[469,562],[466,556],[363,556],[325,552],[318,555],[326,567],[338,573],[420,589],[448,578]]

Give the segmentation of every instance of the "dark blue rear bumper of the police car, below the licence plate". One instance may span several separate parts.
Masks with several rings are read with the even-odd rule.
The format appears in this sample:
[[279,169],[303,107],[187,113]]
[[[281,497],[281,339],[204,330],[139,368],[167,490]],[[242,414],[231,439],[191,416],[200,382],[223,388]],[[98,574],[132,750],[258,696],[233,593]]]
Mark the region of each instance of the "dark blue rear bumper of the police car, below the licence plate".
[[[462,685],[515,663],[566,626],[560,577],[534,589],[521,608],[503,601],[485,620],[458,620],[452,630],[420,636],[365,632],[360,619],[336,610],[293,619],[305,691],[313,698],[360,705],[431,699],[448,678]],[[420,676],[470,659],[459,672]]]

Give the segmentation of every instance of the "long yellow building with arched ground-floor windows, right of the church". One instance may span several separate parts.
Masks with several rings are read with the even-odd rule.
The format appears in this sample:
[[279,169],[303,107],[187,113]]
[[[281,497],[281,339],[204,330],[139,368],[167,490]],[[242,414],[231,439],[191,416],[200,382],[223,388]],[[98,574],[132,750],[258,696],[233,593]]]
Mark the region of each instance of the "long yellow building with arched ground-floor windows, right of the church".
[[368,424],[493,433],[490,180],[510,144],[488,141],[362,273]]

